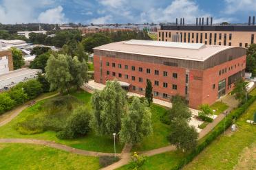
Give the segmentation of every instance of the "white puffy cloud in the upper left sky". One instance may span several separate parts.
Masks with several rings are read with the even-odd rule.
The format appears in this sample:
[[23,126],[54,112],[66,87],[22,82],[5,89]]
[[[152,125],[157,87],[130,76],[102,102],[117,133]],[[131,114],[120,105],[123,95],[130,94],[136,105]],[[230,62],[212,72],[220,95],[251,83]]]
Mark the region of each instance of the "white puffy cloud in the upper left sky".
[[56,8],[52,8],[46,10],[45,12],[41,12],[37,19],[39,23],[65,23],[67,20],[65,19],[65,14],[63,14],[62,6],[58,6]]

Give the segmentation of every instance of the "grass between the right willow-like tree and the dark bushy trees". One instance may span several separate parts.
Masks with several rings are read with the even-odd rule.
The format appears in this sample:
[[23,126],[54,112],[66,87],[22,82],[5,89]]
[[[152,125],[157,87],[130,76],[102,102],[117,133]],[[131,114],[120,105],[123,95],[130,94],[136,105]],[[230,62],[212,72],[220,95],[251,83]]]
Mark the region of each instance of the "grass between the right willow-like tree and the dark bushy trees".
[[142,143],[135,145],[133,151],[147,151],[169,145],[167,136],[169,135],[169,125],[160,121],[160,117],[166,112],[165,108],[152,104],[151,114],[153,123],[153,134],[144,138]]

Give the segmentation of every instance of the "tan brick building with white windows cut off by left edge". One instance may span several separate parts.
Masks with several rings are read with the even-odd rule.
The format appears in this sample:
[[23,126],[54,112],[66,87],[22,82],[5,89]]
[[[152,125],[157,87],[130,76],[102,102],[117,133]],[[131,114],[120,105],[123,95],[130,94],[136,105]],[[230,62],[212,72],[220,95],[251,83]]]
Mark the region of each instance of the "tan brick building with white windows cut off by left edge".
[[0,50],[0,75],[13,71],[12,51]]

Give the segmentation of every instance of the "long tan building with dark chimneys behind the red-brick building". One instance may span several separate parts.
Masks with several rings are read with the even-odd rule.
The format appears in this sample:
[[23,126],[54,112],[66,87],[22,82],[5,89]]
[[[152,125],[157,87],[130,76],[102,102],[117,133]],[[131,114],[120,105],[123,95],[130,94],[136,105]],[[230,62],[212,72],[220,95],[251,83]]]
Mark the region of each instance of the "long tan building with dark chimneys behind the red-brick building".
[[176,23],[161,23],[158,41],[203,43],[248,47],[256,43],[255,16],[249,16],[248,24],[214,24],[213,18],[197,18],[195,24],[185,25],[184,18]]

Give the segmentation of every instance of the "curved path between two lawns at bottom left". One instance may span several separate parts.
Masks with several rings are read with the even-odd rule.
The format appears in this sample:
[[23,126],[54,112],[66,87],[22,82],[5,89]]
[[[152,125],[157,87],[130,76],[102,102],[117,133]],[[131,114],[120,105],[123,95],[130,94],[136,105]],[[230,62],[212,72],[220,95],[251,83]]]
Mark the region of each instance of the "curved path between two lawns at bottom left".
[[[44,145],[47,147],[53,147],[55,149],[61,149],[63,151],[68,151],[74,154],[79,154],[83,156],[114,156],[111,153],[102,153],[96,151],[85,151],[82,149],[76,149],[74,147],[69,147],[67,145],[62,145],[59,143],[54,143],[52,141],[43,141],[37,139],[28,139],[28,138],[0,138],[0,143],[29,143],[29,144],[36,144],[36,145]],[[120,154],[117,154],[120,156]]]

